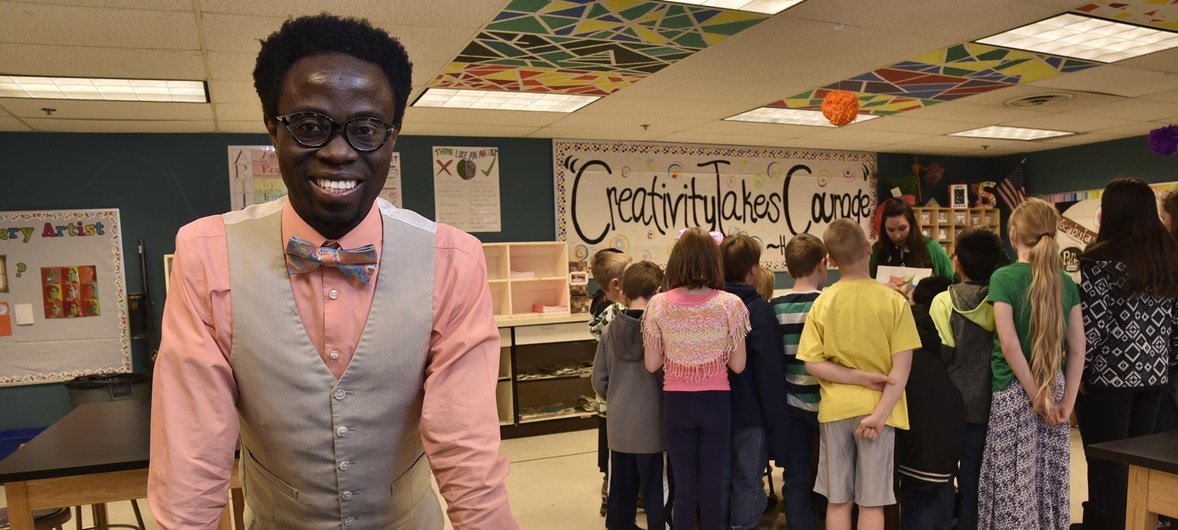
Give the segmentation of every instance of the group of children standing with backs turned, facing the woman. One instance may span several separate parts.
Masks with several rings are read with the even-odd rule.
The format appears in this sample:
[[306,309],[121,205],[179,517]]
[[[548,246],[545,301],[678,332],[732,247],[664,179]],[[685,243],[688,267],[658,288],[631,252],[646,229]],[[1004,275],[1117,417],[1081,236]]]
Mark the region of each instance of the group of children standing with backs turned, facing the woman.
[[[822,508],[827,529],[882,529],[898,497],[904,528],[947,529],[954,482],[957,528],[1066,529],[1084,330],[1057,221],[1037,199],[1017,208],[1012,265],[997,234],[964,231],[961,281],[921,281],[915,305],[872,278],[871,244],[846,219],[788,243],[794,285],[769,300],[747,236],[689,228],[666,273],[596,254],[617,304],[593,323],[594,387],[610,404],[607,528],[634,528],[640,489],[648,529],[756,528],[772,461],[790,529],[815,528]],[[828,265],[839,279],[823,289]]]

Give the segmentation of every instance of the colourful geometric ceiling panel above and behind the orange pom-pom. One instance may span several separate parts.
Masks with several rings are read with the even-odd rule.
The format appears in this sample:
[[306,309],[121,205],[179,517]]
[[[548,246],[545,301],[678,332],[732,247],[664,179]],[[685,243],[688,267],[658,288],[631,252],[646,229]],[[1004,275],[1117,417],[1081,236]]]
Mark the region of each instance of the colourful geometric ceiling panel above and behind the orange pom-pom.
[[887,115],[1024,85],[1099,62],[965,42],[770,104],[819,110],[829,91],[859,95],[860,113]]

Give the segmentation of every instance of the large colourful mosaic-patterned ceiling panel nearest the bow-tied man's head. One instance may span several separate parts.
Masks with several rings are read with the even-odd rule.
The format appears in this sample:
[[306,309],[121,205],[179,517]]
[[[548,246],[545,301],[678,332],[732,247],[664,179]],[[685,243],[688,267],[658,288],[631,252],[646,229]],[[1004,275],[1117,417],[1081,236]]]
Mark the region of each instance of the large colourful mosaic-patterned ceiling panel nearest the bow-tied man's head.
[[430,86],[607,95],[767,18],[650,0],[512,0]]

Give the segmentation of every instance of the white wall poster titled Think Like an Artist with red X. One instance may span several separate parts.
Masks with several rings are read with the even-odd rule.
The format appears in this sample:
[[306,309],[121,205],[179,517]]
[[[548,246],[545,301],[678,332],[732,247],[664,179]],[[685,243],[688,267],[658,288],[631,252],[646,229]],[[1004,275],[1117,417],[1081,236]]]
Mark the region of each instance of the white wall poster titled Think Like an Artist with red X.
[[498,232],[498,147],[434,147],[434,212],[466,232]]

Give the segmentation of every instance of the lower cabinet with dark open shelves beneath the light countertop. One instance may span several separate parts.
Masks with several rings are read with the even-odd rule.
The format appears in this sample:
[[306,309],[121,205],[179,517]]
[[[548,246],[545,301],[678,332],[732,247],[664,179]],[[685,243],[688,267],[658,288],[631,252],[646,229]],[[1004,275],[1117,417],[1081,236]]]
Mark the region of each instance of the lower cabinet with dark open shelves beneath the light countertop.
[[496,400],[505,438],[596,424],[589,378],[597,342],[587,317],[502,319]]

